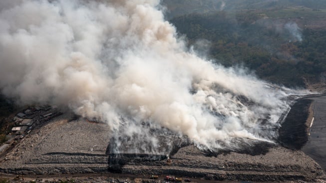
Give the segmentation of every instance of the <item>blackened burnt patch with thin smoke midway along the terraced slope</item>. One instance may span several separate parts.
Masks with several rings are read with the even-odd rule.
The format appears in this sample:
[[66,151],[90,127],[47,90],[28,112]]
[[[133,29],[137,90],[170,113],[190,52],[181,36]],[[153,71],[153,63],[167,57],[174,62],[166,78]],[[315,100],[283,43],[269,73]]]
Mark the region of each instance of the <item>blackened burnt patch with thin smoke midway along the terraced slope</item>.
[[[186,136],[178,136],[177,134],[165,136],[163,135],[165,133],[161,134],[160,131],[156,133],[155,135],[158,137],[158,143],[160,144],[159,149],[151,152],[144,151],[141,147],[142,144],[139,144],[139,140],[123,134],[118,137],[113,136],[105,151],[105,155],[108,156],[108,171],[122,173],[122,169],[126,164],[144,165],[167,160],[169,156],[177,153],[180,148],[191,144]],[[147,147],[150,146],[150,144],[146,145]],[[150,147],[150,149],[153,148],[155,147]]]

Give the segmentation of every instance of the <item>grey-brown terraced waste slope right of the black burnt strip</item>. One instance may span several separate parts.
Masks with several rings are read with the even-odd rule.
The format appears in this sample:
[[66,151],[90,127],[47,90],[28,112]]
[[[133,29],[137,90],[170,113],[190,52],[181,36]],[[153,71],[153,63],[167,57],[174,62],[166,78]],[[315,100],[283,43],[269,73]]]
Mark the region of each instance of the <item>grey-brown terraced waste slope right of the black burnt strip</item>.
[[320,166],[303,152],[280,146],[255,156],[230,152],[211,157],[195,146],[187,146],[171,156],[170,162],[128,161],[121,167],[121,172],[251,181],[313,180],[324,177]]

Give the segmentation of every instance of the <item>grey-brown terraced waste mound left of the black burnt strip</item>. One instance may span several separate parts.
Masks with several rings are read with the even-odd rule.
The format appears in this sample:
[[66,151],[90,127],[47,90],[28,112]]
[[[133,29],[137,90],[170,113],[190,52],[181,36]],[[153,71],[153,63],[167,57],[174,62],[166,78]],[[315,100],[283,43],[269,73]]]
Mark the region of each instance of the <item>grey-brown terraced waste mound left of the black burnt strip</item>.
[[1,159],[1,171],[14,174],[92,173],[108,169],[110,134],[106,124],[68,114],[33,130]]

